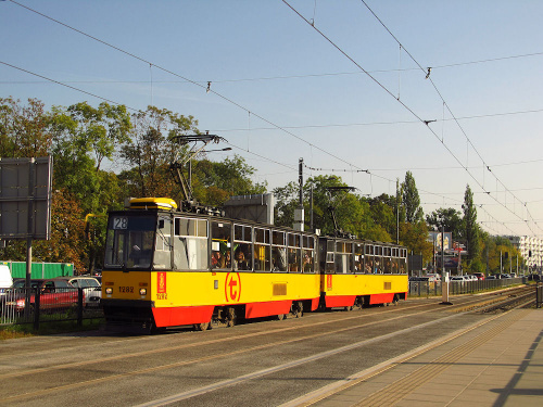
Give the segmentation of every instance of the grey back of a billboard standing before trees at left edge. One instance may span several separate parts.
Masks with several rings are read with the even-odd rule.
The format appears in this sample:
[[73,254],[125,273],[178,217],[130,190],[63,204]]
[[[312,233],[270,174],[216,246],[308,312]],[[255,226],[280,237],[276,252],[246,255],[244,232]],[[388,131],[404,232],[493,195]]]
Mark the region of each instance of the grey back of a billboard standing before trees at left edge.
[[0,239],[50,238],[52,170],[51,156],[0,158]]

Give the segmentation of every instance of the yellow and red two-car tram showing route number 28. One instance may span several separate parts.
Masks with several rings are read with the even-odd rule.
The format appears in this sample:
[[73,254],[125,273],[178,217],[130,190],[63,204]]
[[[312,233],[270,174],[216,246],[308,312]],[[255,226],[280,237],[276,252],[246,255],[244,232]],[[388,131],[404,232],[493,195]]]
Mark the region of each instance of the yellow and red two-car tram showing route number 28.
[[406,254],[131,199],[109,214],[102,306],[109,328],[151,331],[392,303],[406,297]]

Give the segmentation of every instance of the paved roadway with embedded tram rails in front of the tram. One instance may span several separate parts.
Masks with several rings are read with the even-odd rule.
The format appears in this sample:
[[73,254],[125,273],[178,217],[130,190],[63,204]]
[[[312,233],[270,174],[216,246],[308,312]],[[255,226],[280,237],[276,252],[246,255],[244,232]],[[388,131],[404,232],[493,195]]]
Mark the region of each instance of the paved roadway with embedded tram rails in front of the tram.
[[0,405],[278,406],[489,318],[455,308],[414,300],[206,332],[4,341]]

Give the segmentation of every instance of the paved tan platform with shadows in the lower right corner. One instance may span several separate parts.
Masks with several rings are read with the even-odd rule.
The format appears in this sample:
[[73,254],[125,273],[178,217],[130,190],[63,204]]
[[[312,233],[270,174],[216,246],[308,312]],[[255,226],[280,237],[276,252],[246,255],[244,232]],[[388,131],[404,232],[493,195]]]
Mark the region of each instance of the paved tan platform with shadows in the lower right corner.
[[543,406],[542,336],[543,309],[513,310],[305,405]]

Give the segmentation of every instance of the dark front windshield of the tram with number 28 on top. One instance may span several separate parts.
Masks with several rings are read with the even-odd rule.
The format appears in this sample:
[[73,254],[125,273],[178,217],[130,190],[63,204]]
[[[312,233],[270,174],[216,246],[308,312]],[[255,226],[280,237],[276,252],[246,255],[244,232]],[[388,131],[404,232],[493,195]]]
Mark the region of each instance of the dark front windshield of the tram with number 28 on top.
[[156,230],[155,216],[110,216],[105,242],[108,268],[151,267]]

